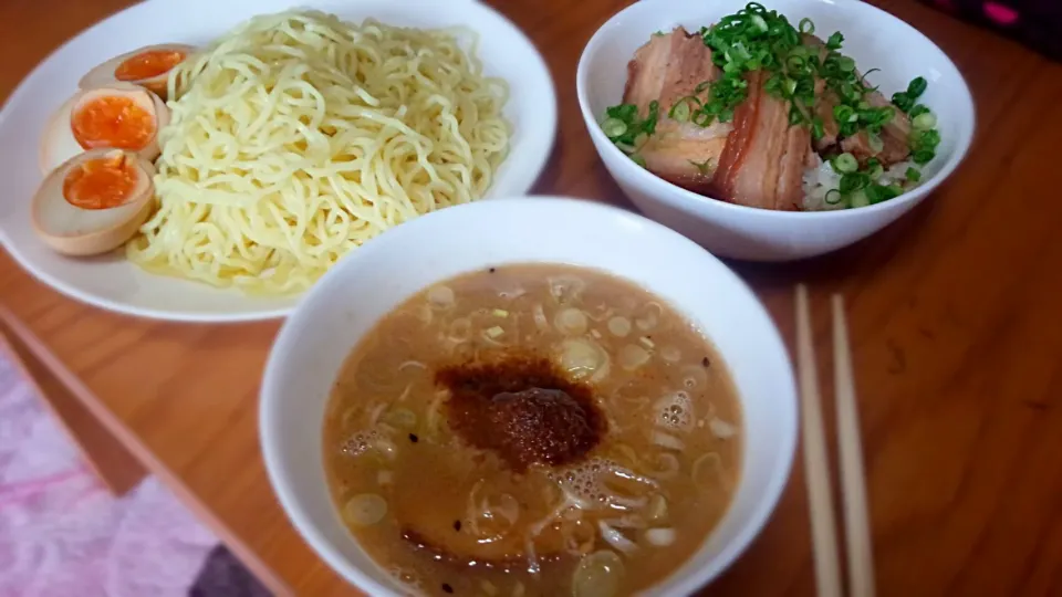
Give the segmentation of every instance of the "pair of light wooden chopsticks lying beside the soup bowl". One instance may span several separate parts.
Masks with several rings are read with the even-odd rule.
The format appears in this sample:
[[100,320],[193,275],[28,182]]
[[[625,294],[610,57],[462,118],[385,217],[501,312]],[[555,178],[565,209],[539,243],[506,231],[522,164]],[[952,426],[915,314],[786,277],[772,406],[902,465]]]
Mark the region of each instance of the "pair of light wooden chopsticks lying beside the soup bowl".
[[[874,596],[874,561],[866,514],[866,482],[860,416],[855,406],[852,350],[848,347],[844,301],[834,294],[833,374],[836,402],[837,447],[841,460],[841,495],[848,562],[848,597]],[[808,289],[796,286],[796,373],[800,379],[801,418],[804,430],[804,473],[811,506],[811,534],[819,597],[841,597],[841,561],[837,554],[830,457],[822,422],[822,398],[815,368]]]

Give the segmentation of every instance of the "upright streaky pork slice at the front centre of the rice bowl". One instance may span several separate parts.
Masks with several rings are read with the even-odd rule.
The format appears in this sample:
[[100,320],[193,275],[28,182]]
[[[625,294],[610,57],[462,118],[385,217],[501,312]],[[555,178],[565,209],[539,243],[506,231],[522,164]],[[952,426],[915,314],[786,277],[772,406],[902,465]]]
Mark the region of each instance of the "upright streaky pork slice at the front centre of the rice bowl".
[[715,196],[762,209],[799,210],[811,130],[789,125],[789,103],[763,88],[770,75],[749,73],[749,96],[733,114],[712,186]]

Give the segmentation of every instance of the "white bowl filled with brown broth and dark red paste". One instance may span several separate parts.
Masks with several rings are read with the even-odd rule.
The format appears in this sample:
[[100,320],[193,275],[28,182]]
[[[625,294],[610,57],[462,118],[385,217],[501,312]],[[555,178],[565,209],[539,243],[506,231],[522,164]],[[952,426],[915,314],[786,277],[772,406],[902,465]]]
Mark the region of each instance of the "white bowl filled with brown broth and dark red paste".
[[261,391],[281,504],[372,595],[688,595],[760,531],[795,437],[751,291],[663,226],[559,198],[345,258]]

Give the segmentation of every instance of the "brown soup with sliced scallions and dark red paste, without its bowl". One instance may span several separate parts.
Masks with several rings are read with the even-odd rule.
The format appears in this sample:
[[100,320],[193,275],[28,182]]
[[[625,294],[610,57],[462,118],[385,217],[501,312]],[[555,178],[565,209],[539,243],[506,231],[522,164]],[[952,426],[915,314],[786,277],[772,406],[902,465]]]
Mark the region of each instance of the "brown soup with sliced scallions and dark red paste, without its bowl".
[[423,290],[344,363],[324,420],[341,519],[427,595],[644,590],[730,504],[722,358],[645,290],[504,265]]

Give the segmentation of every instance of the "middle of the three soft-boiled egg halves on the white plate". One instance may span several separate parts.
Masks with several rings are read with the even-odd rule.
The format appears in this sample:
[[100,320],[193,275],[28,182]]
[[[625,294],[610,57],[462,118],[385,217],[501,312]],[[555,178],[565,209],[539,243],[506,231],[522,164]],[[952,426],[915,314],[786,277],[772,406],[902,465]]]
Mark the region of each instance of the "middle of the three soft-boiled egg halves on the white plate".
[[169,108],[154,93],[132,83],[111,83],[74,94],[44,127],[41,171],[48,174],[86,149],[113,147],[144,159],[158,157],[158,132]]

